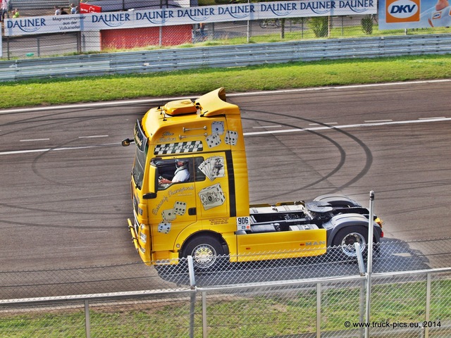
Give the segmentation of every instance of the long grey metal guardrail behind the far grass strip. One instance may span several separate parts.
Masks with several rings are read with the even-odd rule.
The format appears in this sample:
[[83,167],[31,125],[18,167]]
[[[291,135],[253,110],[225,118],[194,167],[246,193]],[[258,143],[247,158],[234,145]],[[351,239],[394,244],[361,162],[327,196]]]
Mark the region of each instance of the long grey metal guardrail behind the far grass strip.
[[0,81],[154,73],[338,58],[449,54],[451,34],[159,49],[0,62]]

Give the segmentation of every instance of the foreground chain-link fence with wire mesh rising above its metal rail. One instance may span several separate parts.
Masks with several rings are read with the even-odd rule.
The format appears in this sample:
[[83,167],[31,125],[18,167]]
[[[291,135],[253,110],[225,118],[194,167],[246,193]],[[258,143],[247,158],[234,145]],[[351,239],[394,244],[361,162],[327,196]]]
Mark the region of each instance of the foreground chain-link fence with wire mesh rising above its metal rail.
[[[0,272],[2,337],[450,337],[451,239],[199,272],[142,263]],[[369,320],[366,311],[369,308]],[[366,326],[365,326],[366,325]]]

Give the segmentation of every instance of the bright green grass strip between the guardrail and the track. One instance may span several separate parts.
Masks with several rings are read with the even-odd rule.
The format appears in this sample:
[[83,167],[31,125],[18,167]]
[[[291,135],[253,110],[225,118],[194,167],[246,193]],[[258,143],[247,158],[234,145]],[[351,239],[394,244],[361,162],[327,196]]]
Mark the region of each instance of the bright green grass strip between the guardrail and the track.
[[2,82],[0,108],[451,77],[451,55],[344,59],[243,68]]

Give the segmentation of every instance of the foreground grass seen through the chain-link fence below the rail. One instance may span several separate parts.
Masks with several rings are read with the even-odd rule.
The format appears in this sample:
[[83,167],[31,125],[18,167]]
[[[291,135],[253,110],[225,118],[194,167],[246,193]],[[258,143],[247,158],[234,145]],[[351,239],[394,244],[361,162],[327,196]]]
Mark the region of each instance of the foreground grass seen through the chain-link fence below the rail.
[[[451,322],[451,280],[431,285],[430,320],[444,330]],[[371,321],[420,323],[426,316],[426,282],[376,284],[372,288]],[[321,291],[321,331],[356,330],[359,287],[328,287]],[[91,305],[92,337],[189,337],[190,300],[149,301],[135,305]],[[24,311],[22,308],[21,311]],[[85,337],[82,309],[30,311],[0,315],[4,337]],[[211,337],[266,337],[316,332],[314,289],[287,289],[268,294],[209,294],[207,325]],[[195,336],[202,336],[202,301],[195,306]],[[435,332],[440,332],[440,327]],[[373,330],[377,330],[373,329]],[[39,335],[39,334],[41,335]],[[393,334],[396,331],[393,330]]]

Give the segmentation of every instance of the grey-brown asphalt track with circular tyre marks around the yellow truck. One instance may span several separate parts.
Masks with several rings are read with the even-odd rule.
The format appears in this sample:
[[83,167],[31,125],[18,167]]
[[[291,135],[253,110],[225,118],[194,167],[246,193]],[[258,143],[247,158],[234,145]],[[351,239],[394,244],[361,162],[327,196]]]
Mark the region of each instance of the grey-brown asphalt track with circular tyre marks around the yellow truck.
[[[450,93],[437,81],[229,94],[251,202],[340,193],[368,206],[373,190],[385,237],[451,237]],[[134,149],[120,143],[166,101],[0,111],[0,270],[139,261],[126,223]]]

